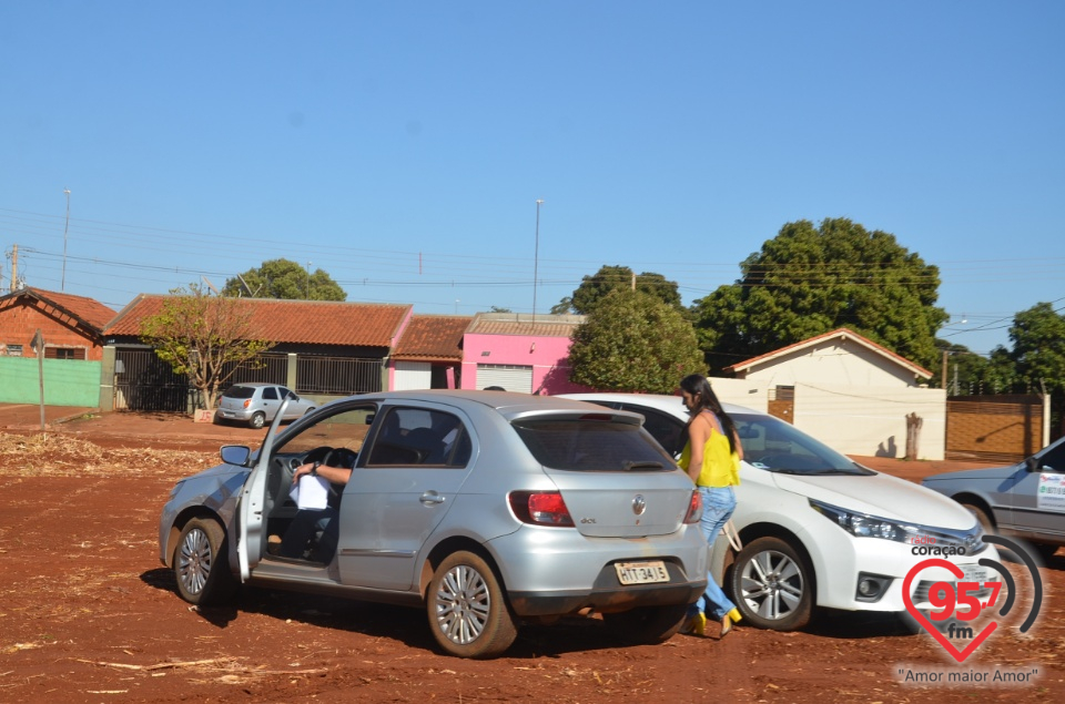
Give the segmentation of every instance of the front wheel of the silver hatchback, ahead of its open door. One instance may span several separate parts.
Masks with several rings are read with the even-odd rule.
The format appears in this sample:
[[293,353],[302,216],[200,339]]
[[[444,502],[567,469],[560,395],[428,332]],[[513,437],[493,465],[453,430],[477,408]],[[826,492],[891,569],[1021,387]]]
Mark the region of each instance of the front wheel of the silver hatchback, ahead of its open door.
[[225,601],[236,589],[230,571],[225,531],[211,519],[192,519],[181,531],[174,554],[178,591],[185,601],[206,606]]

